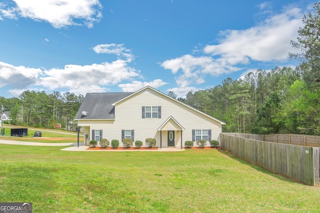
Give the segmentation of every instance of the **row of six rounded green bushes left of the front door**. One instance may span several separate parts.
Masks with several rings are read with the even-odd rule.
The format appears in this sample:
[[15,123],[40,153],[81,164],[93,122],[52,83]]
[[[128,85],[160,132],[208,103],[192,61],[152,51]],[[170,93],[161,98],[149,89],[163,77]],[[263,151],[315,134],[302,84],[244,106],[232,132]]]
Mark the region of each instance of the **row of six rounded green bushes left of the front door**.
[[[110,145],[110,143],[109,143],[109,141],[108,141],[107,139],[101,139],[99,143],[100,143],[100,146],[101,146],[103,149],[107,148],[107,147]],[[130,139],[130,138],[125,138],[125,139],[123,139],[123,140],[122,140],[122,143],[123,143],[123,147],[126,148],[126,149],[130,148],[130,147],[133,145],[133,141],[132,141],[132,139]],[[90,145],[90,147],[92,147],[92,148],[95,148],[95,147],[97,146],[97,144],[98,144],[98,142],[97,142],[96,140],[91,140],[91,141],[89,142],[89,145]],[[136,148],[141,148],[142,144],[143,144],[142,141],[135,141],[135,142],[134,142],[134,145],[136,146]],[[155,139],[153,139],[153,138],[147,138],[147,139],[145,139],[145,144],[146,144],[149,148],[153,148],[153,147],[155,147],[156,141],[155,141]],[[111,147],[112,147],[113,149],[118,148],[118,147],[119,147],[119,141],[118,141],[118,140],[115,140],[115,139],[112,140],[112,141],[111,141]]]

